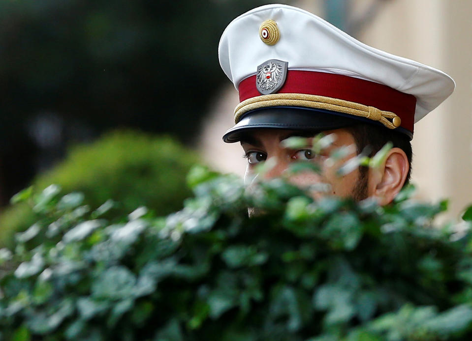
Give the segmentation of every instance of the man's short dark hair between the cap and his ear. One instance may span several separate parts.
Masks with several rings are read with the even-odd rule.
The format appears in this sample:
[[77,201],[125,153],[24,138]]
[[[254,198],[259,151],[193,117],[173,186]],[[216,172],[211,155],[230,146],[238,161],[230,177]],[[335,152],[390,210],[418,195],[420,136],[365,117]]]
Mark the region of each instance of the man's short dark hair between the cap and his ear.
[[[361,153],[364,148],[370,147],[371,151],[368,154],[369,157],[374,156],[387,142],[392,142],[393,147],[402,149],[407,155],[409,170],[407,174],[407,179],[405,180],[405,185],[409,183],[410,174],[411,174],[411,160],[412,160],[412,151],[411,151],[411,142],[409,137],[405,134],[395,132],[393,130],[374,126],[368,123],[355,124],[353,126],[347,127],[346,130],[352,134],[354,142],[356,143],[357,153]],[[367,174],[366,167],[360,167],[359,171],[361,175]]]

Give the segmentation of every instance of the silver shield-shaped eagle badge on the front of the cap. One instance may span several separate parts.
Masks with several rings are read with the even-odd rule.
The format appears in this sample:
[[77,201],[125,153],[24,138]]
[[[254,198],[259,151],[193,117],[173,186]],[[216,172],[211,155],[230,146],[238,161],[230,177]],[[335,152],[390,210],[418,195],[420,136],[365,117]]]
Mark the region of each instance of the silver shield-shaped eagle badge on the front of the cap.
[[257,66],[255,85],[263,95],[278,91],[287,77],[288,62],[269,59]]

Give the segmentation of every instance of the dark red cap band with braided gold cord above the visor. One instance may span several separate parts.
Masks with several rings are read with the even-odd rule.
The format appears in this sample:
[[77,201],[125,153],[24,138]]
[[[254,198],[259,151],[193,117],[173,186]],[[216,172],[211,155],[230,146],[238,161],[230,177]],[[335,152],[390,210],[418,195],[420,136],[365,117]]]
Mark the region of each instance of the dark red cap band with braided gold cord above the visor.
[[239,84],[239,99],[236,122],[254,109],[301,106],[360,116],[379,121],[390,129],[402,127],[413,133],[415,96],[345,75],[288,70],[283,86],[269,95],[260,94],[254,75]]

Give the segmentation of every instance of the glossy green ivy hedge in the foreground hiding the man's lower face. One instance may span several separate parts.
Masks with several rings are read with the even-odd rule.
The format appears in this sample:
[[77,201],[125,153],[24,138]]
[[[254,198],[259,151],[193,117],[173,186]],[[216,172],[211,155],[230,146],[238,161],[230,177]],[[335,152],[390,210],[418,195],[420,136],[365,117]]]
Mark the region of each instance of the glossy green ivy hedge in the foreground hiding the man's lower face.
[[0,250],[2,340],[471,340],[472,234],[433,228],[446,202],[314,201],[202,167],[188,182],[167,217],[20,193],[40,219]]

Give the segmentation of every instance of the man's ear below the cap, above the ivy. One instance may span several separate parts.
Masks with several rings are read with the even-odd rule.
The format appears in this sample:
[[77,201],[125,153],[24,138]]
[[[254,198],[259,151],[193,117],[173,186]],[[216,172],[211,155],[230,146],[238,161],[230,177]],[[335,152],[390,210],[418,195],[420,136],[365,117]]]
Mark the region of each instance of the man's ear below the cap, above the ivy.
[[369,197],[374,197],[380,205],[393,201],[407,179],[409,171],[408,158],[400,148],[392,148],[385,162],[376,169],[369,170]]

